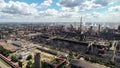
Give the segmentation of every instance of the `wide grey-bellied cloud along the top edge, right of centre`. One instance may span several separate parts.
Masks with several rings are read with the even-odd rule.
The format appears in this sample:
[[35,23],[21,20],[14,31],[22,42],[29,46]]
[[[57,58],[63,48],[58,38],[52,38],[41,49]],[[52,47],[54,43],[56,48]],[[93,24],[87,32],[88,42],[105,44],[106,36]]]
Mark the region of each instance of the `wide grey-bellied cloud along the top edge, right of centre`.
[[[60,0],[57,5],[66,11],[86,11],[112,4],[116,0]],[[66,7],[66,8],[65,8]]]

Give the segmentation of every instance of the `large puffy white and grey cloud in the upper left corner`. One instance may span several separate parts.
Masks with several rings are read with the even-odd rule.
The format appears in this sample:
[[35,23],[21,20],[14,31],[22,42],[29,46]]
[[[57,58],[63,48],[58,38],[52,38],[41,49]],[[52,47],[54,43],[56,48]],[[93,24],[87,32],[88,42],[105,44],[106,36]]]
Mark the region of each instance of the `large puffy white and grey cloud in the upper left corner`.
[[19,14],[19,15],[32,15],[36,14],[37,10],[35,9],[36,4],[27,4],[24,2],[14,2],[9,1],[8,3],[3,3],[1,12],[8,14]]

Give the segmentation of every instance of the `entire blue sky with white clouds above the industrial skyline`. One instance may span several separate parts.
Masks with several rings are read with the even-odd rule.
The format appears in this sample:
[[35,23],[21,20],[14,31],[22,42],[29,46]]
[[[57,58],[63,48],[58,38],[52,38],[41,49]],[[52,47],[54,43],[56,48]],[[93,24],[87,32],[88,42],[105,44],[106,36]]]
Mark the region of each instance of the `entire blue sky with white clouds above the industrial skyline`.
[[119,22],[120,0],[0,0],[0,22]]

